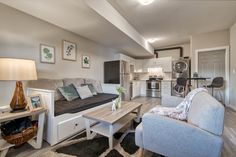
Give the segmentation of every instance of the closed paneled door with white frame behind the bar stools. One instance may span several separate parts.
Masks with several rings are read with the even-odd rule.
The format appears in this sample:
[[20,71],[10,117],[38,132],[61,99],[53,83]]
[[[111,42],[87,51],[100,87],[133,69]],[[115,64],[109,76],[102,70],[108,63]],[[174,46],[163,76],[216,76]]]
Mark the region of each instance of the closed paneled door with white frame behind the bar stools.
[[224,88],[217,89],[214,96],[225,105],[229,104],[229,47],[196,50],[196,72],[201,77],[224,78]]

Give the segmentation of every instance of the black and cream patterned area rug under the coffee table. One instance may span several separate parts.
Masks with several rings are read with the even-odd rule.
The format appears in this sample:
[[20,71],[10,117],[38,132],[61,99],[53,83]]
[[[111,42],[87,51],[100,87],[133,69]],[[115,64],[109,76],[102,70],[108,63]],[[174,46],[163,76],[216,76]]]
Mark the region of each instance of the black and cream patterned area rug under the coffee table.
[[[84,136],[84,137],[83,137]],[[55,149],[59,154],[77,157],[136,157],[138,149],[135,145],[135,133],[133,130],[119,132],[114,135],[114,149],[109,150],[108,138],[95,136],[87,140],[85,134],[73,138],[66,146]],[[145,157],[162,157],[158,154],[145,154]]]

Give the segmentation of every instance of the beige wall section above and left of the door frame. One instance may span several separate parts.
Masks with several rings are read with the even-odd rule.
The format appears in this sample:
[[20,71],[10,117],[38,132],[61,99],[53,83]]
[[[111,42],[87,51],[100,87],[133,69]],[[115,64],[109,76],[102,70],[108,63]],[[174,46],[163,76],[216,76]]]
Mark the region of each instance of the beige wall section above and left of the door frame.
[[210,33],[193,35],[191,37],[191,67],[192,74],[196,71],[195,68],[195,51],[198,49],[214,48],[221,46],[229,46],[230,42],[229,30],[221,30]]

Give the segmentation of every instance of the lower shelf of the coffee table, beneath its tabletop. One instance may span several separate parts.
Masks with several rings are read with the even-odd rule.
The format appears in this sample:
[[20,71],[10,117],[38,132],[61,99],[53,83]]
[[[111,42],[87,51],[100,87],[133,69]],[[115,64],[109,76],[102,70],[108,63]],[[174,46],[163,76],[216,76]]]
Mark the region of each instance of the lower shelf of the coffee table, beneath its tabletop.
[[[113,125],[113,132],[119,131],[121,128],[130,123],[136,117],[137,117],[136,115],[127,115],[124,118],[120,119]],[[92,126],[90,130],[103,136],[109,137],[110,136],[109,127],[110,127],[109,124],[98,123]]]

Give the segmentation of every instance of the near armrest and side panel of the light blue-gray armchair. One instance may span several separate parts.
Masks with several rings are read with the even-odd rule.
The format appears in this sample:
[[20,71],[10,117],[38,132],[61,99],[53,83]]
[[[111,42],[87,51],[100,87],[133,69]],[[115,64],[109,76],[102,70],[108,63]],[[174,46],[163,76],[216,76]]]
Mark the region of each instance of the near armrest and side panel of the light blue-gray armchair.
[[187,122],[147,113],[143,116],[142,127],[143,147],[152,152],[168,157],[221,155],[221,137]]

